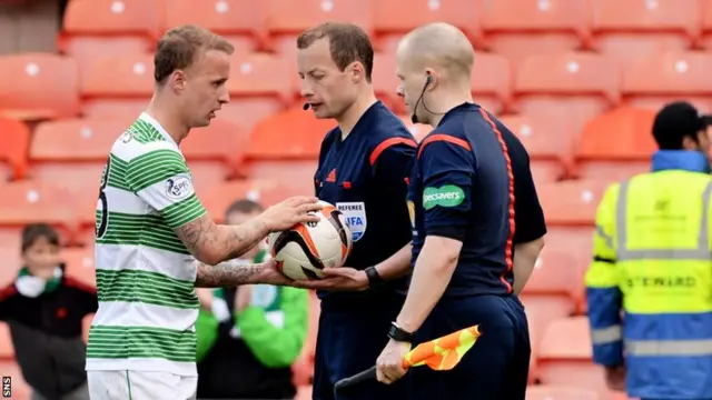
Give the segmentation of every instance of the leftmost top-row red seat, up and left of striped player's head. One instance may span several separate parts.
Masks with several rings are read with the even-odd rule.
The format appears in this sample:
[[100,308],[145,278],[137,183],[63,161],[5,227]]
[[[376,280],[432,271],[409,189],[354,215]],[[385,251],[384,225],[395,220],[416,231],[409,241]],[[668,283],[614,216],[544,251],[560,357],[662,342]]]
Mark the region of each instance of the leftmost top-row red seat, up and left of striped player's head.
[[71,0],[65,11],[59,49],[82,67],[123,53],[147,53],[159,26],[156,0]]

